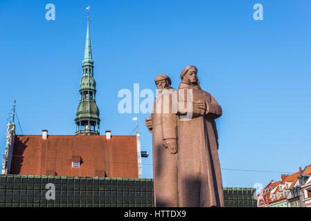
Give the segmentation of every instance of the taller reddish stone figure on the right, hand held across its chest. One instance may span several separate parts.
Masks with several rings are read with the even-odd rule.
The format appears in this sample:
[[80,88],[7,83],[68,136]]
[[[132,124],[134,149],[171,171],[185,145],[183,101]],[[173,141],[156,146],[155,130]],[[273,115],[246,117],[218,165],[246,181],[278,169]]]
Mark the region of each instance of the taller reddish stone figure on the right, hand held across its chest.
[[[184,68],[180,77],[178,101],[192,105],[192,113],[183,120],[184,113],[177,113],[179,206],[224,206],[214,120],[222,115],[222,108],[200,88],[195,66]],[[192,96],[185,96],[183,90]]]

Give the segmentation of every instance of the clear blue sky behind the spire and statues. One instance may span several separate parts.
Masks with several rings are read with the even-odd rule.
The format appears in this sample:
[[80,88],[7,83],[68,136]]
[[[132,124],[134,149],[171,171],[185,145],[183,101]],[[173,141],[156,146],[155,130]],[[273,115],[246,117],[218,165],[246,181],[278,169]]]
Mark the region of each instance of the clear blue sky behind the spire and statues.
[[[55,21],[45,6],[55,4]],[[253,6],[263,4],[263,21]],[[143,177],[152,177],[148,114],[118,113],[122,88],[155,90],[154,77],[192,64],[223,108],[216,120],[224,186],[279,180],[311,162],[311,1],[0,2],[0,151],[13,99],[24,134],[73,135],[91,6],[101,134],[129,135],[139,117]],[[17,126],[17,133],[20,134]]]

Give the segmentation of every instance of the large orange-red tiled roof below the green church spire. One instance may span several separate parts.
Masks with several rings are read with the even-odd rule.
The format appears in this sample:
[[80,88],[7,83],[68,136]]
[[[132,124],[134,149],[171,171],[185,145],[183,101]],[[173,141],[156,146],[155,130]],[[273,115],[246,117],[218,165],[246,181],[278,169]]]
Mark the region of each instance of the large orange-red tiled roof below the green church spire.
[[[80,167],[73,160],[80,157]],[[136,135],[17,135],[11,174],[139,177]]]

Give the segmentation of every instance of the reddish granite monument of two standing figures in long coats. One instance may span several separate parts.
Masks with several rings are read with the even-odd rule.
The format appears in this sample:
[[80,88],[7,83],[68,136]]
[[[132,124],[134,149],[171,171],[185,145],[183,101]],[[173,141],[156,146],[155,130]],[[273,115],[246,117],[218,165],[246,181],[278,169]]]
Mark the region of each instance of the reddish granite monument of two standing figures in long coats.
[[[152,132],[155,206],[224,206],[215,119],[222,108],[202,90],[197,68],[154,80],[158,93],[145,124]],[[186,109],[185,109],[186,107]]]

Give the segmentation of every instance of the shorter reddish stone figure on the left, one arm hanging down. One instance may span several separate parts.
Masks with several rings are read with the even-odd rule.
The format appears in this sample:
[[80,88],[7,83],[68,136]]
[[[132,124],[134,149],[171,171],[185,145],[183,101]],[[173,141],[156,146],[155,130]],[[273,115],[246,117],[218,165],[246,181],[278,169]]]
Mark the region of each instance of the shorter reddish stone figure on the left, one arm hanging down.
[[154,205],[178,205],[177,189],[177,115],[172,113],[172,82],[166,75],[155,79],[157,97],[152,114],[145,119],[145,124],[152,132],[152,155],[154,177]]

